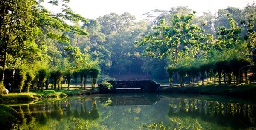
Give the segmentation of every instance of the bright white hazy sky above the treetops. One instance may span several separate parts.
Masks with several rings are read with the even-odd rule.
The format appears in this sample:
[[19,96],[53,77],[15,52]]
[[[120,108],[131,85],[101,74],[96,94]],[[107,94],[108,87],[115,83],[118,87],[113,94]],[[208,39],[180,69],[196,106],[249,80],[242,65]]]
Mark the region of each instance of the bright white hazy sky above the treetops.
[[[129,12],[142,19],[142,14],[153,9],[169,10],[171,7],[188,6],[195,10],[197,15],[202,12],[211,11],[215,13],[218,9],[228,6],[243,9],[254,0],[70,0],[69,6],[75,13],[83,17],[95,19],[111,12],[122,14]],[[50,9],[51,10],[51,9]]]

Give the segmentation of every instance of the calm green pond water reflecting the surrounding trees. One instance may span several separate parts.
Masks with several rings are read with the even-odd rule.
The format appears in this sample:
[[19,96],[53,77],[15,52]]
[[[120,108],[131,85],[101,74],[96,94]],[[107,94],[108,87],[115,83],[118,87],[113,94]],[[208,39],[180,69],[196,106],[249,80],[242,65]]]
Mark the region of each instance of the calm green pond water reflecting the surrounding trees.
[[23,117],[15,130],[256,130],[253,103],[216,96],[90,95],[12,108]]

